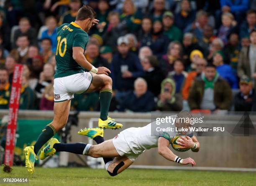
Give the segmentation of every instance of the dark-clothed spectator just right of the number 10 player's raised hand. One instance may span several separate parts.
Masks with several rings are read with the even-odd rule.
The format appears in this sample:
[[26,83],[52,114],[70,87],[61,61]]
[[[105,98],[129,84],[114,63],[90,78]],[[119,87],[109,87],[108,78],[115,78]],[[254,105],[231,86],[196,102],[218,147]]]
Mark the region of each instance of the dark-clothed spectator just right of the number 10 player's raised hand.
[[102,39],[104,45],[108,45],[112,48],[113,52],[117,52],[116,42],[121,35],[125,35],[127,30],[125,30],[120,24],[119,13],[110,12],[108,14],[108,28],[103,33]]

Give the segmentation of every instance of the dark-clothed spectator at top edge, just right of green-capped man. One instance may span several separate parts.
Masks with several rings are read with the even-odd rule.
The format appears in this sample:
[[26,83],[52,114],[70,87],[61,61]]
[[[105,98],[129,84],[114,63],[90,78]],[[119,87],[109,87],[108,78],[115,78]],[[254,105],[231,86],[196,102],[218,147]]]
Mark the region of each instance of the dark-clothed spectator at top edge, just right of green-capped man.
[[182,0],[181,10],[174,15],[174,23],[177,27],[184,31],[187,25],[193,23],[196,17],[196,11],[191,9],[189,0]]

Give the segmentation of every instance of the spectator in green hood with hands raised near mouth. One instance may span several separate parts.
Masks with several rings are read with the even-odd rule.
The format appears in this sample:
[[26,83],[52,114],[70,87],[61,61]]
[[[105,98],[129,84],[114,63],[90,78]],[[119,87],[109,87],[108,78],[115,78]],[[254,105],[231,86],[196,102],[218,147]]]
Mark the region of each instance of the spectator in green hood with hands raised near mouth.
[[160,111],[181,111],[182,96],[176,92],[174,80],[166,78],[161,82],[161,94],[157,102],[157,108]]

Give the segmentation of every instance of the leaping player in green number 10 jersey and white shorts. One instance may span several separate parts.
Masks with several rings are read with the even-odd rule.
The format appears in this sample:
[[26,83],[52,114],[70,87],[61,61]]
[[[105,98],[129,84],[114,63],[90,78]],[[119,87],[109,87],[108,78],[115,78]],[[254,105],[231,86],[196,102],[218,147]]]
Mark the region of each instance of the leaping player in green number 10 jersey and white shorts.
[[[117,129],[123,126],[108,117],[112,98],[112,79],[108,76],[110,70],[95,68],[84,56],[89,38],[87,32],[99,22],[95,16],[95,11],[85,5],[79,9],[75,22],[62,24],[57,30],[54,119],[42,130],[35,145],[24,149],[26,168],[30,173],[34,172],[38,151],[66,125],[74,93],[100,90],[99,128]],[[85,69],[90,72],[85,72]],[[52,153],[51,149],[49,152]],[[47,152],[44,153],[47,155]]]

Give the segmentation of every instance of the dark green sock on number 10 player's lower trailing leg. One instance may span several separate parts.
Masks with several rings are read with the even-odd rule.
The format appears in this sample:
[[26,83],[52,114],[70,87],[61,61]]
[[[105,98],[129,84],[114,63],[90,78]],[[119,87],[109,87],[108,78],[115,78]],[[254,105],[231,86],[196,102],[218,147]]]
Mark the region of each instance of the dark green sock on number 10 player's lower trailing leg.
[[46,127],[42,130],[39,135],[36,144],[34,145],[34,152],[37,155],[38,151],[44,144],[51,139],[52,136],[56,133],[56,129],[51,124],[46,125]]

